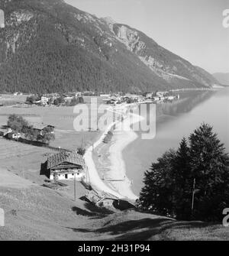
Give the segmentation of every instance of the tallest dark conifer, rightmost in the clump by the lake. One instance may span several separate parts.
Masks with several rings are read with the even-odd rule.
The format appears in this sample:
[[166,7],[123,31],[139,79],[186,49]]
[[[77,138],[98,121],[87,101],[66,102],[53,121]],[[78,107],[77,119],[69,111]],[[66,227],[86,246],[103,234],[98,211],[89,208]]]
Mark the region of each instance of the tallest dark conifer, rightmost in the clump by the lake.
[[189,141],[192,176],[198,191],[195,218],[218,219],[224,206],[229,206],[229,157],[210,125],[202,124],[190,135]]

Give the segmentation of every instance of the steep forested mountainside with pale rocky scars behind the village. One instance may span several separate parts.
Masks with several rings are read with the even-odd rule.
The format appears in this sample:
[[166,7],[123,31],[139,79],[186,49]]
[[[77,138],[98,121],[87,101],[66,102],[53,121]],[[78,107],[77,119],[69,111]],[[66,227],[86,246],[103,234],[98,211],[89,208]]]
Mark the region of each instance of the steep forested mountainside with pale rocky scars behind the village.
[[146,34],[62,0],[0,0],[1,92],[211,87],[209,73]]

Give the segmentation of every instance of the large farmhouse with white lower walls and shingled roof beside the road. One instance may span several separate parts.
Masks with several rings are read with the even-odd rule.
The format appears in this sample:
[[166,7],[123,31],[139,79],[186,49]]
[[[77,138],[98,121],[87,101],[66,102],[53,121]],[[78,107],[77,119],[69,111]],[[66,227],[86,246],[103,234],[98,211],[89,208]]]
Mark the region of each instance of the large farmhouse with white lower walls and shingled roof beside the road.
[[85,162],[76,152],[61,151],[47,159],[50,180],[81,180],[85,176]]

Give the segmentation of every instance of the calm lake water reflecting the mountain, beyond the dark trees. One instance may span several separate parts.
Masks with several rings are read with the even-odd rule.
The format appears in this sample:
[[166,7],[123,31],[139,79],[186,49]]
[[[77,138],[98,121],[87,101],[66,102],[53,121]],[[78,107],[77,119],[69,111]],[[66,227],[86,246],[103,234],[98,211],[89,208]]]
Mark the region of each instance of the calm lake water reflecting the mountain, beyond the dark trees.
[[[169,148],[176,149],[183,137],[198,128],[202,122],[213,126],[229,153],[229,88],[218,91],[180,92],[181,100],[157,105],[157,115],[164,114],[156,122],[156,137],[136,141],[123,151],[127,177],[134,181],[132,190],[136,195],[144,186],[144,171]],[[141,115],[147,115],[144,113]]]

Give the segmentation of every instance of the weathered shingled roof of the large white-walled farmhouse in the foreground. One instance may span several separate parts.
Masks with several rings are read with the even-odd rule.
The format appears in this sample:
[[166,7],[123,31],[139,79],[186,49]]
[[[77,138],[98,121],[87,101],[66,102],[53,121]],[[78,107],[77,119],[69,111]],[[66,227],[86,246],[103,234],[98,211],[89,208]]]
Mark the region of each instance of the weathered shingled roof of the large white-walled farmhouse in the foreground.
[[77,154],[76,152],[65,152],[61,151],[58,154],[53,154],[47,159],[47,169],[56,167],[57,165],[68,162],[70,164],[85,166],[84,159],[82,155]]

